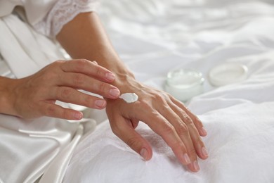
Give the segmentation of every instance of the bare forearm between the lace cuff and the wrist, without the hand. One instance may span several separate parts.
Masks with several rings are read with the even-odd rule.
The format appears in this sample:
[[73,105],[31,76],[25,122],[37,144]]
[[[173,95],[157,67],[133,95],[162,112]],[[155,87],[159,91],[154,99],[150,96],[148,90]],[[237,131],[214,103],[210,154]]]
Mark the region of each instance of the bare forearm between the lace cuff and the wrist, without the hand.
[[120,81],[133,78],[113,49],[96,13],[80,13],[63,27],[57,39],[72,58],[97,61],[115,73],[115,86],[121,85]]

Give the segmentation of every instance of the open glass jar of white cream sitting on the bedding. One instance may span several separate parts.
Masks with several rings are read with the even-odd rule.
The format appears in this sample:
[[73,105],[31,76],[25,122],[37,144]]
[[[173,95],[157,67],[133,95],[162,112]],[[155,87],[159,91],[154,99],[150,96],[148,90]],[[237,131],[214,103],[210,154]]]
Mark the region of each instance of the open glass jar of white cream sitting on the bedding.
[[202,94],[203,84],[202,72],[191,69],[176,69],[167,74],[165,91],[179,101],[188,101],[193,96]]

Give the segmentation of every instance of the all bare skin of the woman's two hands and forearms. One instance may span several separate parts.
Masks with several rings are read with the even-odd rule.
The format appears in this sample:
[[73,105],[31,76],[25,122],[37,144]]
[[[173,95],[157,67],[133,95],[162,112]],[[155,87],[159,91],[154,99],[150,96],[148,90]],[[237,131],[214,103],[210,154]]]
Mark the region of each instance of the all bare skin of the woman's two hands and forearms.
[[[56,100],[106,108],[112,131],[144,160],[152,158],[152,148],[135,131],[139,121],[159,134],[183,165],[193,172],[200,170],[197,157],[208,157],[201,139],[207,135],[202,122],[171,95],[134,78],[113,49],[96,13],[80,13],[56,39],[74,60],[56,61],[22,79],[0,77],[0,113],[25,119],[46,115],[79,120],[81,112],[62,108]],[[118,99],[123,93],[136,93],[138,101]]]

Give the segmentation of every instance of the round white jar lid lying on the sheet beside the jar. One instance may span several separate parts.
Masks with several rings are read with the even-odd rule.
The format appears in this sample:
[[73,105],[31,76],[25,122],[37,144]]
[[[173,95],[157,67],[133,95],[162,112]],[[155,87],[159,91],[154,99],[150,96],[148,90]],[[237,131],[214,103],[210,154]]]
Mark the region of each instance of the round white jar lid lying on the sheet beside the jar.
[[209,70],[209,81],[216,87],[242,82],[247,78],[248,68],[240,63],[222,63]]

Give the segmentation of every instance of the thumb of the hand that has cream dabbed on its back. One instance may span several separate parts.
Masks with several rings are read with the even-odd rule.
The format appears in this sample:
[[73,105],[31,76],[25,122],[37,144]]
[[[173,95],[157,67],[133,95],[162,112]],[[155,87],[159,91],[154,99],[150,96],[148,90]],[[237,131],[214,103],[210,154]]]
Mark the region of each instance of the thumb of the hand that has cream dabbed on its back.
[[140,154],[144,160],[150,160],[152,158],[150,143],[134,130],[130,120],[117,114],[110,118],[110,126],[112,132],[131,147],[133,151]]

